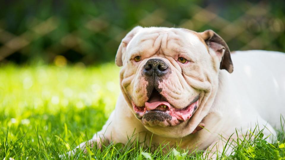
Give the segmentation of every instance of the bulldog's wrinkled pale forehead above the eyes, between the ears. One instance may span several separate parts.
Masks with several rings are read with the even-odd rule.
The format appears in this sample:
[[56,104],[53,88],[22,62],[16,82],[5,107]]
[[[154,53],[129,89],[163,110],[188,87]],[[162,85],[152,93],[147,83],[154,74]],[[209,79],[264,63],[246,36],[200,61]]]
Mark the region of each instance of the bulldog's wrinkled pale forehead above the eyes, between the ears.
[[[126,48],[132,54],[156,54],[163,52],[197,53],[208,50],[197,32],[182,28],[143,28]],[[173,54],[173,53],[169,53]]]

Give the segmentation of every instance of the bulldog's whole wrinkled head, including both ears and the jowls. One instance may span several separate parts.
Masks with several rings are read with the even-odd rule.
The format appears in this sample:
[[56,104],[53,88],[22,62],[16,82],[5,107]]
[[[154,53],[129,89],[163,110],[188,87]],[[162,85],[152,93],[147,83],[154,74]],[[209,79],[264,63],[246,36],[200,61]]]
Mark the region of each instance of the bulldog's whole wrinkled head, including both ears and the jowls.
[[213,103],[219,69],[232,72],[227,44],[216,33],[182,28],[134,28],[116,64],[123,66],[121,89],[133,113],[167,137],[191,133]]

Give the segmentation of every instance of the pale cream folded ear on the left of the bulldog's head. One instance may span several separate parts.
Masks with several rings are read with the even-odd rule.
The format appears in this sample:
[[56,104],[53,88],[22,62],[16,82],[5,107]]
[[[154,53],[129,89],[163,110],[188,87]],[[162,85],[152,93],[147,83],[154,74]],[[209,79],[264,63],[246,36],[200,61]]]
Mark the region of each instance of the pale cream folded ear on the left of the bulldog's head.
[[115,58],[115,63],[117,66],[121,67],[123,65],[124,61],[124,55],[126,52],[126,47],[129,44],[129,42],[132,40],[135,34],[137,34],[143,27],[137,26],[130,31],[125,38],[122,39],[121,44],[118,48],[117,55]]

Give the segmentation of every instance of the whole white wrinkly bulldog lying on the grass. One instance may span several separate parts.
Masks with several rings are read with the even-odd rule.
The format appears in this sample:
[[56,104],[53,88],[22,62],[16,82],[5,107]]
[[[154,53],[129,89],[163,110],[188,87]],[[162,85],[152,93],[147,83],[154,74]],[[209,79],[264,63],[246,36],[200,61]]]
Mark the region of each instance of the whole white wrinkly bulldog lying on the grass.
[[116,64],[122,94],[103,129],[80,148],[126,144],[137,135],[146,144],[152,137],[154,146],[222,151],[235,129],[240,135],[231,141],[257,124],[266,126],[264,136],[275,136],[273,127],[285,115],[285,54],[230,54],[211,30],[135,27],[122,40]]

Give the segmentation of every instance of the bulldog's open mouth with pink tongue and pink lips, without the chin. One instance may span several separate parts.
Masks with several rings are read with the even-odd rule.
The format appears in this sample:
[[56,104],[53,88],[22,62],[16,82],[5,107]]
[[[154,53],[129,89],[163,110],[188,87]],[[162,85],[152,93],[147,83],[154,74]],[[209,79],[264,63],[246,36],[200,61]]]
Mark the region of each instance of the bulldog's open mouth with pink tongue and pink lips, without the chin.
[[133,109],[137,113],[138,119],[142,119],[148,112],[158,111],[169,114],[172,119],[185,121],[190,119],[194,111],[197,109],[199,103],[199,95],[192,100],[192,102],[182,109],[173,107],[167,100],[159,94],[156,89],[153,92],[144,106],[137,106],[132,102]]

